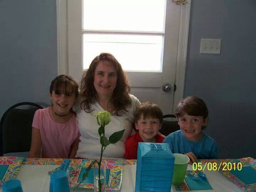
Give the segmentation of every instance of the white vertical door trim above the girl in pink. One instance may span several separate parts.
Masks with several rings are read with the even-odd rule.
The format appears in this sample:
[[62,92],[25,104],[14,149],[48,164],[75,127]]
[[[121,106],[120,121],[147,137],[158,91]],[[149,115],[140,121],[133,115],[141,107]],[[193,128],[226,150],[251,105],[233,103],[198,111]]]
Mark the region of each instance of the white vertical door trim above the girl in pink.
[[56,0],[58,75],[68,74],[67,2]]

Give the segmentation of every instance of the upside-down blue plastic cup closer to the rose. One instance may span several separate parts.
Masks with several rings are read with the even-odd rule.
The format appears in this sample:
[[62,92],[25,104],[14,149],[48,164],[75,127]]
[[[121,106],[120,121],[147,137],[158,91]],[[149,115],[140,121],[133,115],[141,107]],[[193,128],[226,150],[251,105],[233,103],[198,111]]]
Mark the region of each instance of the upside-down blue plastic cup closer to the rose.
[[52,172],[49,192],[70,192],[67,174],[63,170]]

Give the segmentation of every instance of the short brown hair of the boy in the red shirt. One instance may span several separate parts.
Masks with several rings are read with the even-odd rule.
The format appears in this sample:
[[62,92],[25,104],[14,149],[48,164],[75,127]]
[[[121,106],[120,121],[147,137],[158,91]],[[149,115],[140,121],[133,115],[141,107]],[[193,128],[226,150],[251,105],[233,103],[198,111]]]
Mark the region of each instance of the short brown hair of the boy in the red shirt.
[[152,102],[140,104],[134,112],[134,122],[137,123],[143,114],[143,118],[157,118],[160,124],[162,123],[162,111],[160,107]]

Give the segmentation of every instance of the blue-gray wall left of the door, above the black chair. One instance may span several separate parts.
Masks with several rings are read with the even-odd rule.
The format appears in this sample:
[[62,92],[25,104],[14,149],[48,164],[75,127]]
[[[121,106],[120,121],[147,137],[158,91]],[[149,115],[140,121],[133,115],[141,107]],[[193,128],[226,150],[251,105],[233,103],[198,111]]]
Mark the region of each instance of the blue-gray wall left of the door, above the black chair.
[[58,75],[56,0],[0,0],[0,117],[18,102],[50,105]]

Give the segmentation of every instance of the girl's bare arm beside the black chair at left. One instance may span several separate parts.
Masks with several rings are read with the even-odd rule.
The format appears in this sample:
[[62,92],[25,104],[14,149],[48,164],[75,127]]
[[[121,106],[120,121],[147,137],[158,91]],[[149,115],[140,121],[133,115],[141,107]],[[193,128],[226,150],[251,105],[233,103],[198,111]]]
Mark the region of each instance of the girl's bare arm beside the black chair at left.
[[41,155],[42,140],[40,129],[32,127],[32,139],[29,158],[40,158]]

